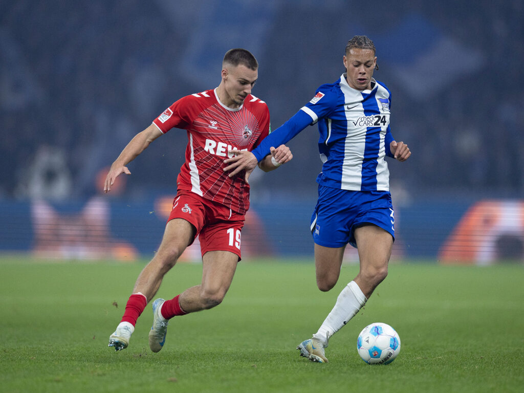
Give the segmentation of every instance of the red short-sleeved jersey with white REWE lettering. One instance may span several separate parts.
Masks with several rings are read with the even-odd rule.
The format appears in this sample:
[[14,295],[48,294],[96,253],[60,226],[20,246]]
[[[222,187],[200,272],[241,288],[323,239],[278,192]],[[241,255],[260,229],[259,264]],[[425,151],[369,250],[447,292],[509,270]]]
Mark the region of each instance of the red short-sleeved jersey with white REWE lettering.
[[[249,209],[249,184],[241,172],[230,178],[222,168],[228,150],[249,150],[269,134],[269,110],[264,101],[249,94],[241,107],[223,105],[215,90],[182,97],[153,123],[165,134],[186,129],[185,163],[177,178],[179,190],[194,192],[245,214]],[[230,156],[231,157],[231,156]]]

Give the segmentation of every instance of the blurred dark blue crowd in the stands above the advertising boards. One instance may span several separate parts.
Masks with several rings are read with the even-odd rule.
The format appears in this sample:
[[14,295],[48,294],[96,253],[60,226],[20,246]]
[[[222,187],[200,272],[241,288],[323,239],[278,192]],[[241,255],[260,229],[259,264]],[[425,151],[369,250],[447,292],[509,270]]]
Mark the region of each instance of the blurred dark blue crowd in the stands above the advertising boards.
[[[522,196],[521,0],[420,5],[400,0],[367,5],[366,12],[342,0],[259,3],[3,2],[0,198],[60,200],[99,193],[95,179],[128,140],[179,97],[219,84],[222,58],[216,53],[232,47],[246,47],[257,57],[253,94],[267,101],[274,129],[320,84],[340,77],[345,43],[354,34],[381,37],[375,78],[392,91],[394,136],[413,152],[409,163],[391,163],[393,184],[412,193]],[[228,19],[221,24],[224,7]],[[254,23],[249,20],[257,17],[257,7],[264,8],[265,20]],[[438,65],[440,84],[427,95],[406,88],[409,73],[420,74],[409,60],[402,64],[389,53],[380,62],[386,48],[378,43],[387,43],[390,32],[412,39],[401,36],[407,15],[439,32],[435,45],[457,50]],[[237,25],[230,26],[231,20]],[[245,36],[237,39],[231,31]],[[417,50],[412,63],[423,66],[430,54]],[[463,67],[465,61],[473,65]],[[320,170],[316,127],[303,133],[290,144],[289,169],[260,177],[262,189],[288,188],[291,179],[296,190],[314,189]],[[185,132],[170,134],[175,135],[167,143],[151,145],[132,163],[130,193],[175,187],[187,139]]]

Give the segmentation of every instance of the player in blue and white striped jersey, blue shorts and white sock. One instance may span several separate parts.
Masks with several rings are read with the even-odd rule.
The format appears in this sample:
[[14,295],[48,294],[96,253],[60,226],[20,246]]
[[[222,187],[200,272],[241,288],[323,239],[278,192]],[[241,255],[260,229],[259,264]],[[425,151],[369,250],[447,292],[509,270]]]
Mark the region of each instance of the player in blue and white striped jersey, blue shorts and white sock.
[[347,243],[358,249],[360,269],[319,330],[298,345],[300,355],[313,362],[328,362],[324,348],[330,337],[356,315],[388,272],[395,217],[385,156],[405,161],[411,151],[391,135],[391,93],[373,79],[378,69],[375,52],[368,37],[353,37],[343,57],[346,72],[339,80],[320,86],[308,104],[256,149],[232,151],[236,156],[224,160],[229,176],[246,170],[247,180],[272,146],[285,144],[318,123],[323,165],[311,218],[316,284],[321,291],[335,286]]

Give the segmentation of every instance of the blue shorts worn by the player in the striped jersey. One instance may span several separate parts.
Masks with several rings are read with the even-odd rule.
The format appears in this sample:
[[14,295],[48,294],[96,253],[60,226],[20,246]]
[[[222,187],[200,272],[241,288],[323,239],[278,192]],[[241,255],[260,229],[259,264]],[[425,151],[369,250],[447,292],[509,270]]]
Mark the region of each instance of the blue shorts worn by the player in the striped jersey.
[[356,247],[355,229],[374,224],[395,241],[395,216],[388,191],[350,191],[319,185],[311,217],[313,241],[324,247]]

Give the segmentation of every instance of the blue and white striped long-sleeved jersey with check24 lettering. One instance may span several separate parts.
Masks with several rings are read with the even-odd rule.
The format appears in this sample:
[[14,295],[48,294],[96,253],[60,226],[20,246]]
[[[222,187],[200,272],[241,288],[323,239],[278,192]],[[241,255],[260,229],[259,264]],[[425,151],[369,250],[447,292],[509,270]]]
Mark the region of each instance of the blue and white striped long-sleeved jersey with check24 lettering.
[[389,191],[385,156],[392,156],[389,127],[391,93],[372,79],[372,89],[351,88],[345,74],[323,84],[313,99],[285,124],[269,134],[252,152],[260,161],[269,147],[287,143],[302,129],[318,122],[322,172],[319,184],[343,190]]

